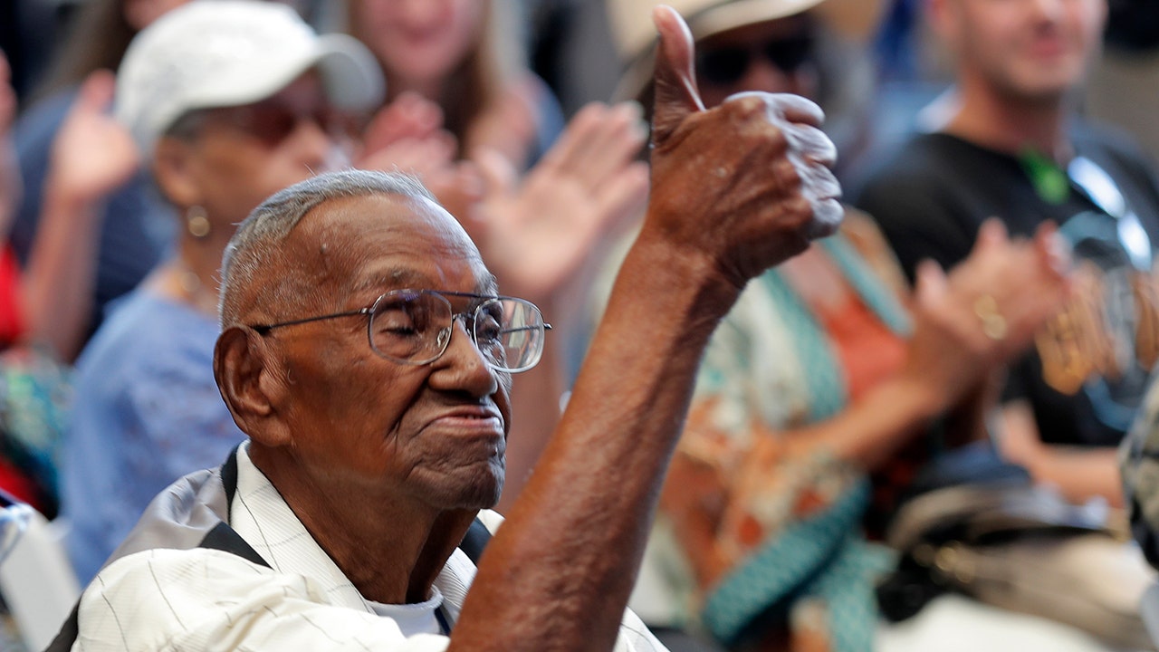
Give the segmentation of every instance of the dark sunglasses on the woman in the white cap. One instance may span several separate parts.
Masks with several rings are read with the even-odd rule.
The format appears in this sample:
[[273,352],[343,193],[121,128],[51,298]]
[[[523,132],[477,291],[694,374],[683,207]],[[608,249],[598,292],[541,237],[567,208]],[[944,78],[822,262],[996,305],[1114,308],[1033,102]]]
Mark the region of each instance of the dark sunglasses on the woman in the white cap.
[[224,122],[253,136],[268,147],[276,147],[308,121],[336,140],[353,140],[362,132],[362,116],[336,109],[328,103],[314,107],[294,107],[278,97],[253,104],[206,109],[205,119]]

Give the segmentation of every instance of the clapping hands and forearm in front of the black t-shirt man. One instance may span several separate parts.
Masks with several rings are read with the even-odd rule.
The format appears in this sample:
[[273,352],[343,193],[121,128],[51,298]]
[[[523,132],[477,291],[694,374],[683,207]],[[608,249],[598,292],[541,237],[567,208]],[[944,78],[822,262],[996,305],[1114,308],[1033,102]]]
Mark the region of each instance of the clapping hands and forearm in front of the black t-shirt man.
[[[1069,267],[1052,225],[1040,229],[1033,244],[1021,244],[1011,241],[999,222],[986,222],[970,256],[948,276],[934,263],[918,267],[913,334],[902,369],[838,416],[790,440],[822,442],[872,469],[889,457],[898,435],[946,411],[976,421],[976,403],[992,393],[984,391],[991,375],[1021,355],[1065,302]],[[1015,276],[1019,282],[1011,283]],[[979,311],[1000,319],[1001,332],[987,333]]]

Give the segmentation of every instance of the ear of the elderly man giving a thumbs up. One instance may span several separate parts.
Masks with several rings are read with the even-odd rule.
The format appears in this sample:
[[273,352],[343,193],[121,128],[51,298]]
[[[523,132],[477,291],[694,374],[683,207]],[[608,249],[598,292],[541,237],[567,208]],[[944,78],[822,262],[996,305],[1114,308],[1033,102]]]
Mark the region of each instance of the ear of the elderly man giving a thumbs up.
[[290,443],[276,405],[283,383],[265,340],[253,328],[231,326],[213,348],[213,377],[233,420],[250,439],[270,447]]

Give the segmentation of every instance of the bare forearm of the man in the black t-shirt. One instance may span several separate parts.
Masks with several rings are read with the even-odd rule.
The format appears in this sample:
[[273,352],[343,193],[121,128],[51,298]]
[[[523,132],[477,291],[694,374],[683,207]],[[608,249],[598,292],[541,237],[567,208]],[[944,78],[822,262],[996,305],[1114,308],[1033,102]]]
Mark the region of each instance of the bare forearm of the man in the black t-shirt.
[[1036,483],[1055,486],[1067,500],[1081,504],[1103,498],[1111,507],[1123,506],[1117,449],[1043,443],[1034,412],[1025,400],[1003,406],[996,440],[1003,457],[1026,466]]

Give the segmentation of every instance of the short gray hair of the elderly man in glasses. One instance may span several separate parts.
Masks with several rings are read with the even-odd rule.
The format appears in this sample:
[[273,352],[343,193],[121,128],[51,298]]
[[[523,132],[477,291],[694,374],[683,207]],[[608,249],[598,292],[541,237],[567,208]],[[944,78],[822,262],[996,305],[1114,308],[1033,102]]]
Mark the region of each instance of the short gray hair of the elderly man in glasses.
[[371,195],[401,195],[437,203],[416,178],[387,172],[345,169],[320,174],[294,183],[261,203],[239,226],[221,260],[221,328],[238,324],[252,305],[290,300],[287,278],[258,285],[261,271],[278,261],[282,242],[309,211],[330,200]]

